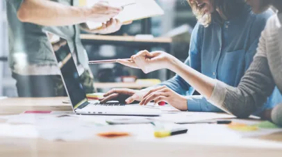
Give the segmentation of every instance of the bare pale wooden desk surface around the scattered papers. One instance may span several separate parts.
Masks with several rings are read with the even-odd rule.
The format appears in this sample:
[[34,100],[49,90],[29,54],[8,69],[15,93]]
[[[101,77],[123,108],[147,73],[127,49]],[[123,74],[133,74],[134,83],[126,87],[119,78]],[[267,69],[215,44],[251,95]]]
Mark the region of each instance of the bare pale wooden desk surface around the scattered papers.
[[[70,110],[63,104],[65,97],[28,99],[3,99],[0,115],[6,110]],[[19,112],[21,111],[21,112]],[[138,140],[135,138],[93,138],[79,142],[54,142],[42,139],[0,138],[0,156],[281,156],[282,133],[260,138],[236,140],[190,137],[188,141],[175,138]]]

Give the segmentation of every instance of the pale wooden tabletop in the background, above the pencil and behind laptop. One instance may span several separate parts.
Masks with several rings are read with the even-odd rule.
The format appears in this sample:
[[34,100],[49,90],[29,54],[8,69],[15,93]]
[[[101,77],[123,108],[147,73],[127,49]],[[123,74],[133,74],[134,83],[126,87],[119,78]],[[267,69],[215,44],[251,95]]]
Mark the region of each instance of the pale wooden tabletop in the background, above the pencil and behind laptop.
[[172,38],[153,38],[149,40],[144,40],[144,39],[136,39],[135,36],[92,35],[92,34],[81,34],[81,39],[119,41],[119,42],[161,42],[161,43],[172,42]]

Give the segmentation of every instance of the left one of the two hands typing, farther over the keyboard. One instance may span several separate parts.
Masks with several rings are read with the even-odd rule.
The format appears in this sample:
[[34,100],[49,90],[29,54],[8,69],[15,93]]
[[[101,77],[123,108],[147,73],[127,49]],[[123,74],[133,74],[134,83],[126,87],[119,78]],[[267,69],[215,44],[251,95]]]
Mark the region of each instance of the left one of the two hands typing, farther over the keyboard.
[[103,99],[99,99],[101,103],[107,101],[119,101],[120,103],[131,104],[133,101],[140,101],[145,93],[140,90],[131,90],[127,88],[117,88],[108,91],[103,95]]

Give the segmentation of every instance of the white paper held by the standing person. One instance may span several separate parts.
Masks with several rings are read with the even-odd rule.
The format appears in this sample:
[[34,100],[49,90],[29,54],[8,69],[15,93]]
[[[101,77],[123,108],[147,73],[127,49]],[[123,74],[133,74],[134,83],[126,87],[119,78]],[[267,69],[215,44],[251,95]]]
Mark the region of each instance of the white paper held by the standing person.
[[[87,6],[93,6],[97,1],[99,0],[86,0],[85,4]],[[122,23],[164,14],[163,9],[158,6],[155,0],[108,0],[108,3],[117,7],[124,6],[124,10],[114,17]],[[102,26],[100,22],[86,22],[86,24],[90,29],[96,29]]]

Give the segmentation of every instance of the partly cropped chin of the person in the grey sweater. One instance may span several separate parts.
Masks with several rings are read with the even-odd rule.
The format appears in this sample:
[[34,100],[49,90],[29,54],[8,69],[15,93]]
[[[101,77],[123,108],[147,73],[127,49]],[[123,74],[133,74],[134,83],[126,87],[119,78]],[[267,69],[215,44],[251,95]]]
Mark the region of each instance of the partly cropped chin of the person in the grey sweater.
[[269,8],[269,0],[245,0],[253,10],[254,13],[259,14]]

